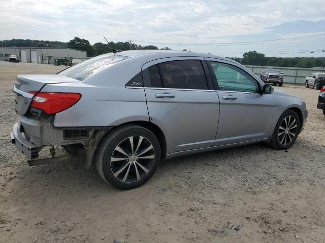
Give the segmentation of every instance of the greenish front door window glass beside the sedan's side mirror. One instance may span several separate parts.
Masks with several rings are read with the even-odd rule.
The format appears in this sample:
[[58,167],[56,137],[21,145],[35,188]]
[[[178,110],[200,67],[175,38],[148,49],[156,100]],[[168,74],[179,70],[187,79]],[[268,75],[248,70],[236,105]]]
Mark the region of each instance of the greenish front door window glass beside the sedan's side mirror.
[[219,90],[253,93],[259,92],[256,80],[240,68],[213,61],[210,61],[210,64],[217,78]]

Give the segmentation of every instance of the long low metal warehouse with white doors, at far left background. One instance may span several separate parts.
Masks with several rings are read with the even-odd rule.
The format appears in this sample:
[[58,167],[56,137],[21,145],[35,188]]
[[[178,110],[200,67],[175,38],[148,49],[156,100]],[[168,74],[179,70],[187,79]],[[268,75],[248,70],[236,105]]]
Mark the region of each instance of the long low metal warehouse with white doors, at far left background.
[[0,61],[16,55],[21,62],[54,64],[55,59],[84,59],[87,52],[71,48],[0,47]]

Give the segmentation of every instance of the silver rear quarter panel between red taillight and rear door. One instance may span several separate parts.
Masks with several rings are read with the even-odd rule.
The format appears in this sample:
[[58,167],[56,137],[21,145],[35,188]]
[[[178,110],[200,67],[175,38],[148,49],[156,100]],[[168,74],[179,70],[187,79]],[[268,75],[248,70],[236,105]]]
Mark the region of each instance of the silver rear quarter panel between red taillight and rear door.
[[46,85],[42,91],[82,95],[77,104],[55,115],[55,127],[109,127],[135,120],[149,121],[144,89],[78,83]]

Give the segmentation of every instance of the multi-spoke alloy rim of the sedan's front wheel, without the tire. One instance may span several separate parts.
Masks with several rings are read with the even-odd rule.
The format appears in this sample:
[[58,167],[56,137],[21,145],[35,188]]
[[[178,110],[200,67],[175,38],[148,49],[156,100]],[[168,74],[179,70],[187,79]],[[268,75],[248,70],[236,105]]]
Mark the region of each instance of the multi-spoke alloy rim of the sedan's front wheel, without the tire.
[[283,146],[290,144],[295,139],[297,132],[298,123],[296,118],[292,115],[284,117],[278,130],[280,144]]

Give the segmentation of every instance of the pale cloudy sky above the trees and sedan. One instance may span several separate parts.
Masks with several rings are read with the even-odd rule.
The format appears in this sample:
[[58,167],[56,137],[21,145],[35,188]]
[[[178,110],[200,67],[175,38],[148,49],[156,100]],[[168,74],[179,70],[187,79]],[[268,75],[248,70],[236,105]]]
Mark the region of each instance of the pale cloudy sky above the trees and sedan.
[[[0,39],[69,42],[78,36],[94,44],[106,43],[105,35],[228,57],[253,50],[325,56],[323,0],[0,0],[0,6]],[[280,40],[262,42],[273,39]]]

